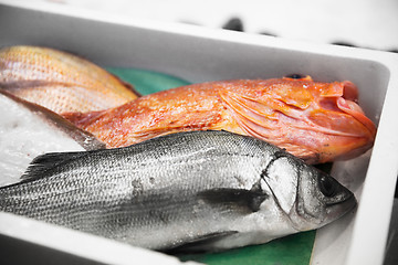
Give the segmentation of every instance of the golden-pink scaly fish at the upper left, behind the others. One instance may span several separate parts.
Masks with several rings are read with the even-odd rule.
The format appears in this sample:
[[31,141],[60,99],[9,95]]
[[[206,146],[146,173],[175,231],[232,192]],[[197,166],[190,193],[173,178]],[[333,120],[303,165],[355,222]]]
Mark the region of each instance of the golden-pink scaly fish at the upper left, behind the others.
[[61,114],[119,106],[139,96],[98,65],[43,46],[0,50],[0,88]]

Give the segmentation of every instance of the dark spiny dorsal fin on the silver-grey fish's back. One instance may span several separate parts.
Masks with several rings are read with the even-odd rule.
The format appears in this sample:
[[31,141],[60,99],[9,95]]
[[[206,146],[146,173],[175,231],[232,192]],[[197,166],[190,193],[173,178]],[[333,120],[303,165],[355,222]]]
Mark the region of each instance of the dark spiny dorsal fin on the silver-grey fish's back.
[[56,166],[85,156],[86,152],[49,152],[35,157],[29,165],[25,172],[21,176],[22,181],[31,181],[46,176],[45,172]]

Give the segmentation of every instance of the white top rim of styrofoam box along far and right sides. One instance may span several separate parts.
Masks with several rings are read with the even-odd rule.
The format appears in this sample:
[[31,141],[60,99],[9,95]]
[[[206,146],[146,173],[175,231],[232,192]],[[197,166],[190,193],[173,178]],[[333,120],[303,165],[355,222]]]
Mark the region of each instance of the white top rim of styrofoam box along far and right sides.
[[[371,157],[366,173],[366,181],[360,191],[360,203],[355,213],[355,218],[349,224],[352,225],[352,236],[346,239],[348,242],[345,240],[342,242],[342,247],[344,247],[346,252],[345,255],[343,255],[344,261],[339,261],[338,258],[334,259],[335,256],[333,253],[337,250],[327,250],[331,254],[327,254],[327,252],[324,251],[325,245],[323,245],[322,236],[320,236],[321,232],[316,236],[316,244],[312,257],[313,264],[383,263],[392,208],[396,177],[398,172],[398,121],[395,118],[395,115],[398,114],[398,56],[391,53],[362,49],[286,41],[277,38],[210,30],[192,25],[135,20],[132,18],[113,14],[103,15],[97,12],[78,10],[71,7],[64,7],[60,9],[60,6],[56,4],[42,4],[35,7],[32,3],[25,1],[0,2],[3,2],[7,7],[14,7],[15,9],[23,8],[31,10],[32,12],[44,12],[53,15],[65,15],[70,18],[83,18],[93,22],[106,22],[119,24],[121,26],[154,30],[157,32],[185,35],[187,38],[195,36],[239,43],[242,45],[264,45],[275,50],[282,49],[308,54],[367,60],[384,65],[389,71],[388,88],[384,100],[383,113],[378,121],[377,138],[371,151]],[[10,32],[10,34],[12,34],[12,32]],[[95,47],[93,49],[95,50]],[[106,65],[106,55],[101,56],[98,59],[98,63]],[[199,82],[200,80],[195,80],[192,76],[191,81]],[[2,225],[2,221],[4,220],[0,219],[0,233],[6,233],[7,231],[3,230],[4,225]],[[23,237],[24,235],[20,235],[20,239]],[[323,247],[317,247],[320,245]],[[59,245],[56,247],[62,248],[63,246]],[[87,256],[86,253],[78,253],[78,255]],[[92,257],[88,256],[88,258]]]

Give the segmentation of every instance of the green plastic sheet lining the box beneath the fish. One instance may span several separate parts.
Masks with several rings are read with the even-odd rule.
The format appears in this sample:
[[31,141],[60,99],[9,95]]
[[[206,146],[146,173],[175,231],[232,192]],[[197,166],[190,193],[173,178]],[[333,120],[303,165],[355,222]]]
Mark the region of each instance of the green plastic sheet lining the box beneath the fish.
[[[115,67],[107,70],[134,85],[142,95],[190,84],[182,78],[151,71]],[[310,231],[274,240],[263,245],[247,246],[221,253],[181,255],[179,258],[214,265],[304,265],[310,264],[314,240],[315,231]]]

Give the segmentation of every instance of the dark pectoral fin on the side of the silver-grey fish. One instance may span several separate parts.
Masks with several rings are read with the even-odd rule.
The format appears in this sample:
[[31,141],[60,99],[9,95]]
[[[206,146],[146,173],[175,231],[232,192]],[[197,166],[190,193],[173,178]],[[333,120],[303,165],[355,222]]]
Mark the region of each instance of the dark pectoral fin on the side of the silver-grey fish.
[[245,189],[212,189],[198,194],[200,199],[212,205],[227,205],[242,212],[256,212],[261,203],[269,197],[260,188],[253,186],[251,190]]

